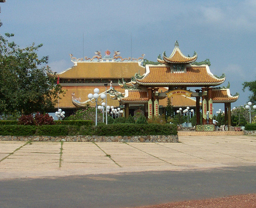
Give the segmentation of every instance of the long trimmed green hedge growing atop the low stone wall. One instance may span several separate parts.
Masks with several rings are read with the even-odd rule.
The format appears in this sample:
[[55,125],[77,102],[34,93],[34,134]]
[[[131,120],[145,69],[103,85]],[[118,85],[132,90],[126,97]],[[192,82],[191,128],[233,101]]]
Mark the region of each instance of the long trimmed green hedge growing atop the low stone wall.
[[99,124],[92,125],[0,125],[0,135],[11,136],[66,136],[66,135],[103,135],[103,136],[132,136],[132,135],[176,135],[177,126],[173,124]]

